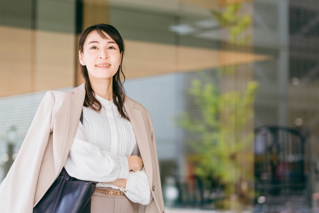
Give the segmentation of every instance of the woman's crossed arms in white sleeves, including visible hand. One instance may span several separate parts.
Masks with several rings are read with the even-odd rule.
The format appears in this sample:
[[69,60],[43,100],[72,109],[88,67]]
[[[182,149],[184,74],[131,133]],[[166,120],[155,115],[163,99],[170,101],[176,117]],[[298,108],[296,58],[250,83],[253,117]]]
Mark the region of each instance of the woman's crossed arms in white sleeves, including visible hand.
[[71,177],[99,182],[99,187],[124,191],[135,203],[147,205],[152,201],[142,159],[136,155],[116,156],[101,151],[97,146],[86,142],[80,122],[64,168]]

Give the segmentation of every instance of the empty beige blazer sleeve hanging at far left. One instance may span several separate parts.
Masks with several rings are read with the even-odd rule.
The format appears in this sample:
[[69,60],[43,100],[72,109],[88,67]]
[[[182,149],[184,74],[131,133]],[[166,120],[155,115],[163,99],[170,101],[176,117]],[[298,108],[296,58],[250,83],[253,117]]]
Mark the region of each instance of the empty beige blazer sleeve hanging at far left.
[[51,132],[54,96],[48,91],[35,113],[18,155],[0,185],[0,213],[32,213],[43,155]]

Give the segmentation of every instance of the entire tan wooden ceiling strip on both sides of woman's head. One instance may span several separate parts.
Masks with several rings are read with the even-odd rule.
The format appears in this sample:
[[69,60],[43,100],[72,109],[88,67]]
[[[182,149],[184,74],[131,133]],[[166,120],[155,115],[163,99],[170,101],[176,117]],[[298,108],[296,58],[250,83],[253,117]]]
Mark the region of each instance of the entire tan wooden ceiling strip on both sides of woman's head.
[[[128,78],[195,71],[270,59],[250,52],[126,40]],[[75,35],[0,26],[0,96],[70,87]],[[77,83],[81,83],[78,79]]]

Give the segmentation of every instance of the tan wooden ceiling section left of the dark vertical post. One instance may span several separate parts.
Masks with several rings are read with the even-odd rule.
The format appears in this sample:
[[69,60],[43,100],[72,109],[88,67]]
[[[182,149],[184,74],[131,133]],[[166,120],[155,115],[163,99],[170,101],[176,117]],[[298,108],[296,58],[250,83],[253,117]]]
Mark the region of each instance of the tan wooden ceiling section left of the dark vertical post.
[[0,97],[73,86],[74,38],[0,26]]

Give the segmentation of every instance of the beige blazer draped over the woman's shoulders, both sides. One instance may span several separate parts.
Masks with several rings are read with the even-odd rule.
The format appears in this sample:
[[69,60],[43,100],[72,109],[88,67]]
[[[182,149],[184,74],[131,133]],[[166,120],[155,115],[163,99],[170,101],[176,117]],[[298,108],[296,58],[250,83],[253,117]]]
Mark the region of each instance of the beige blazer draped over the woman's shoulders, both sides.
[[[20,151],[0,185],[0,213],[32,213],[60,174],[70,151],[85,97],[84,84],[69,92],[48,91],[42,99]],[[154,199],[140,213],[163,213],[160,171],[151,117],[127,97],[131,120]]]

